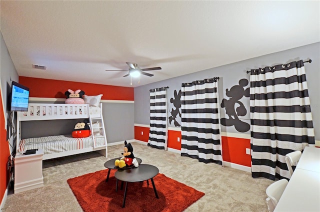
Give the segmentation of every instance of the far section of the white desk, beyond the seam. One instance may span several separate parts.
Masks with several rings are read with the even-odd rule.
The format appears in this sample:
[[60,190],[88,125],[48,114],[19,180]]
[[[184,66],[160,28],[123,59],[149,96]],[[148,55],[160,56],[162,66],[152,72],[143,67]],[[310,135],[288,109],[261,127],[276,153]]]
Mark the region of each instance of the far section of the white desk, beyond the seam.
[[320,148],[306,146],[296,168],[320,171]]

